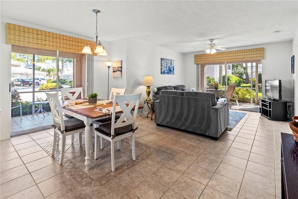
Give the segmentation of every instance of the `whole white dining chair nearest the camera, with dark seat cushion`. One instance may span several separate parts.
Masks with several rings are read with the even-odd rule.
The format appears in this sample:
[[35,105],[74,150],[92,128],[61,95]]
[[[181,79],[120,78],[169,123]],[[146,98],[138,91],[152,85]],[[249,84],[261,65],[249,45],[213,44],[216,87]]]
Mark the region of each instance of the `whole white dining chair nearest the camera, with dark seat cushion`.
[[[135,153],[135,134],[134,132],[138,129],[136,126],[136,116],[138,114],[139,103],[141,100],[142,94],[131,94],[131,95],[115,95],[114,104],[112,110],[112,121],[104,123],[95,128],[95,153],[94,159],[96,160],[99,155],[99,141],[100,149],[103,149],[102,139],[111,142],[111,163],[112,171],[115,171],[115,160],[114,160],[114,143],[117,142],[117,149],[120,150],[121,140],[125,137],[131,138],[131,152],[132,159],[136,160]],[[126,105],[126,102],[130,102],[129,105]],[[119,106],[117,106],[117,104]],[[118,108],[117,108],[118,107]],[[115,115],[116,112],[121,108],[123,114],[116,121]],[[131,114],[132,109],[134,109],[134,115]]]

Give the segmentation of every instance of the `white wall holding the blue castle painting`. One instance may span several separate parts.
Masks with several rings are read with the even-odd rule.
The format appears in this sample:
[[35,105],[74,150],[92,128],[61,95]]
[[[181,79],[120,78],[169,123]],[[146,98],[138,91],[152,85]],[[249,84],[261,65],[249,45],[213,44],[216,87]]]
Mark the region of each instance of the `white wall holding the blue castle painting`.
[[[151,86],[151,96],[153,88],[184,84],[184,54],[131,38],[127,39],[126,52],[128,94],[142,93],[142,100],[146,99],[146,87],[141,85],[145,75],[151,75],[155,83]],[[174,75],[161,74],[161,58],[175,60]]]

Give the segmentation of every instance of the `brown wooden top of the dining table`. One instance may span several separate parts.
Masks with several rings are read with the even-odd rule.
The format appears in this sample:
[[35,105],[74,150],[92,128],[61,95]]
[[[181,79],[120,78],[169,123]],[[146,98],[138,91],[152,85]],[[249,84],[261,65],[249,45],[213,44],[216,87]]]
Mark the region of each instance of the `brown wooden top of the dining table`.
[[[77,101],[82,101],[82,102],[88,102],[88,100],[77,100]],[[64,104],[67,104],[67,101],[61,102],[61,106]],[[126,104],[127,106],[129,104]],[[118,106],[118,105],[117,105]],[[78,108],[78,109],[72,109],[72,106],[65,106],[63,107],[66,110],[72,111],[74,113],[89,117],[91,119],[96,119],[96,118],[100,118],[100,117],[106,117],[106,116],[111,116],[109,114],[103,114],[102,112],[99,111],[94,111],[97,109],[97,107],[103,107],[103,108],[110,108],[113,107],[113,104],[103,104],[103,105],[99,105],[99,106],[86,106],[86,108]],[[134,107],[135,108],[135,107]],[[134,111],[134,108],[132,109]],[[140,108],[144,108],[143,106],[139,105],[139,109]],[[122,113],[122,111],[117,111],[116,114],[118,113]]]

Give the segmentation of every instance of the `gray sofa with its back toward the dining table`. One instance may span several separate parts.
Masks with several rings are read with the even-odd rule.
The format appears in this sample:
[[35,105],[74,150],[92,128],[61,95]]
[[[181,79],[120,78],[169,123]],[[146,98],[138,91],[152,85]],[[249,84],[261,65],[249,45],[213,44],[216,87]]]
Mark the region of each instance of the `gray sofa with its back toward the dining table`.
[[163,90],[155,101],[155,123],[218,140],[229,125],[229,104],[211,92]]

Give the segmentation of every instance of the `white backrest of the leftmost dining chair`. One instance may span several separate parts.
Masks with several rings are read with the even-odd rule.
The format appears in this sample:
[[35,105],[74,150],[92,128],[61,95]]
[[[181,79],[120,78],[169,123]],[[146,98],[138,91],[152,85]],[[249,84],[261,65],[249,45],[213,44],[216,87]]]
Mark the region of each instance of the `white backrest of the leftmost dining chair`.
[[56,92],[55,93],[54,92],[52,92],[52,93],[45,92],[45,93],[46,93],[46,97],[48,98],[49,105],[51,108],[53,124],[56,125],[56,123],[60,123],[61,130],[64,131],[65,126],[64,126],[63,112],[62,112],[62,108],[60,105],[60,101],[58,99],[58,95]]

